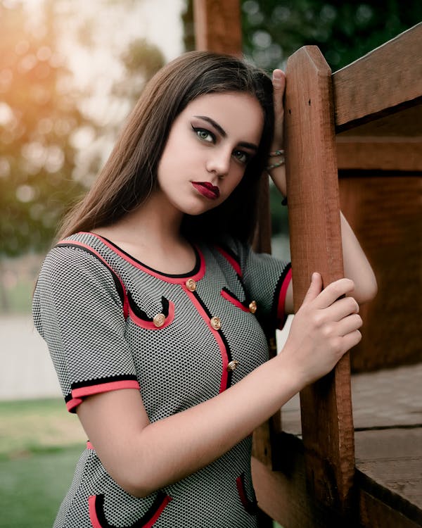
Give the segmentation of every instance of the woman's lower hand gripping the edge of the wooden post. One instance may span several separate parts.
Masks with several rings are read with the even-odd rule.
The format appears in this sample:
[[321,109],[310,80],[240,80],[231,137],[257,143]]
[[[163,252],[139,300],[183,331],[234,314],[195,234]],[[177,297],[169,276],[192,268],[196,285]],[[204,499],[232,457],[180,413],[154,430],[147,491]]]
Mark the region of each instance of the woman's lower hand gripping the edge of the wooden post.
[[[345,352],[362,339],[359,305],[351,296],[354,283],[339,279],[322,290],[319,273],[293,318],[281,357],[306,386],[330,372]],[[321,291],[322,290],[322,291]]]

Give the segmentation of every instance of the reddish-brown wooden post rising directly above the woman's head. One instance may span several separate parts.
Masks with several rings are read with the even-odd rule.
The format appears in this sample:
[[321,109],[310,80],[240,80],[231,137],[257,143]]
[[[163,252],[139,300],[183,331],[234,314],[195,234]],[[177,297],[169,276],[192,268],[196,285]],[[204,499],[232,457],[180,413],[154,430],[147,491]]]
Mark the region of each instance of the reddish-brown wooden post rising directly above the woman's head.
[[196,49],[241,56],[239,0],[193,0]]

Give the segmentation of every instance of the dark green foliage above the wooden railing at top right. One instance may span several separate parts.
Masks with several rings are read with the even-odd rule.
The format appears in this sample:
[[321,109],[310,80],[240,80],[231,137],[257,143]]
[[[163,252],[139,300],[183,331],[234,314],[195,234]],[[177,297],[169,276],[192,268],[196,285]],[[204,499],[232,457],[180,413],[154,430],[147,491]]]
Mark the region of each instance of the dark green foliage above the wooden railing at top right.
[[337,70],[422,20],[418,0],[243,0],[241,6],[245,54],[268,69],[312,44]]

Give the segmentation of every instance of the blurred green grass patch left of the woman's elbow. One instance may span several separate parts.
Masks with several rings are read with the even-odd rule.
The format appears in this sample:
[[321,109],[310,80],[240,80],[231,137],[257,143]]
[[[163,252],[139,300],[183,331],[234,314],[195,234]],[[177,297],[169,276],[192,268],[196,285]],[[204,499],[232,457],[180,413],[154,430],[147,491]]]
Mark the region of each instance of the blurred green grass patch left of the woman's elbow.
[[0,402],[0,528],[49,528],[86,436],[63,400]]

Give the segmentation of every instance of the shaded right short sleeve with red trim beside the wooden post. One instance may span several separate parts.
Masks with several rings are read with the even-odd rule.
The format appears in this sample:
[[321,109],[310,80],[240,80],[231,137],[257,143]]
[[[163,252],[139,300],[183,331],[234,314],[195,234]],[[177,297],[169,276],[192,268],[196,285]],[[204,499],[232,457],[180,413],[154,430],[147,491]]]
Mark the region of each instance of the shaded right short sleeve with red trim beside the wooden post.
[[238,268],[245,291],[257,303],[257,318],[267,329],[283,328],[284,305],[292,277],[291,264],[268,253],[255,253],[249,244],[231,240],[224,246],[226,258]]

